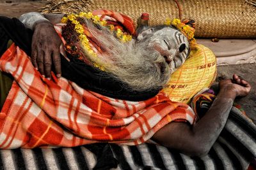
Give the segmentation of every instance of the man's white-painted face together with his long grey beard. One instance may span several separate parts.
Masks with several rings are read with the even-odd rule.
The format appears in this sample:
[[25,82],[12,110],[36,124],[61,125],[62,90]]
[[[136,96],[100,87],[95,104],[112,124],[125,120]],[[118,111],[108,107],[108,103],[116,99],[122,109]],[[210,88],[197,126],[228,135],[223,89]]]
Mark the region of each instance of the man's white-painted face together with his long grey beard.
[[139,92],[163,88],[189,53],[186,37],[171,27],[150,27],[129,43],[122,43],[104,28],[101,34],[93,32],[98,30],[93,25],[90,30],[105,50],[90,60],[104,66],[106,72],[127,84],[128,89]]

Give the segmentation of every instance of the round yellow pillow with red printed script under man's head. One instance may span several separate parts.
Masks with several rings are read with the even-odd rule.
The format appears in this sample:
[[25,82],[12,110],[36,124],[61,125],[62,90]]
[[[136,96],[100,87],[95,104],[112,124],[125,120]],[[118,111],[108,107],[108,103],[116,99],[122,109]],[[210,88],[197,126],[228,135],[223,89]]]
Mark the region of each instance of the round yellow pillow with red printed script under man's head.
[[216,78],[216,57],[204,45],[197,44],[162,90],[172,101],[189,103],[200,90],[210,87]]

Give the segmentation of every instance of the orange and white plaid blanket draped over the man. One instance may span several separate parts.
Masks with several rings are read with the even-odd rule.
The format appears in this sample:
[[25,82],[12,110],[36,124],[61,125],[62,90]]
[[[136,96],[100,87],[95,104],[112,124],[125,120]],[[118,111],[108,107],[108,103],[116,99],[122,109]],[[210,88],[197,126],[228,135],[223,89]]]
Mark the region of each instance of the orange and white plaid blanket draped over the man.
[[172,121],[193,124],[188,105],[158,94],[147,101],[112,99],[65,78],[47,80],[14,44],[0,69],[15,79],[0,113],[0,148],[78,146],[95,142],[138,145]]

